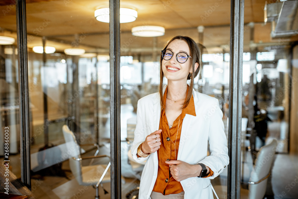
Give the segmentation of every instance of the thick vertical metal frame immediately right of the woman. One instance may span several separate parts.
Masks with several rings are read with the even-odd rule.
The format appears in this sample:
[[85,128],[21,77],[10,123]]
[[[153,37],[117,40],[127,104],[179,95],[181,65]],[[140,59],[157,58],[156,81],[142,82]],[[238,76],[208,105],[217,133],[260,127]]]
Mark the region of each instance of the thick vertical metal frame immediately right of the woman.
[[231,1],[228,198],[240,198],[244,0]]

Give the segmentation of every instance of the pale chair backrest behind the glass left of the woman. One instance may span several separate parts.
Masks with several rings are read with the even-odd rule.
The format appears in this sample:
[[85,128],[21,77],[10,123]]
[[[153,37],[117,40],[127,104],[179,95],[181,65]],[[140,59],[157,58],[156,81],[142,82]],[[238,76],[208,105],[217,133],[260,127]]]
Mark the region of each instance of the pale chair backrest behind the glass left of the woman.
[[81,158],[80,146],[77,144],[75,135],[69,130],[67,125],[62,127],[63,136],[67,148],[67,154],[69,155],[69,167],[72,174],[75,176],[79,184],[82,183],[82,164],[81,161],[74,160],[73,158]]

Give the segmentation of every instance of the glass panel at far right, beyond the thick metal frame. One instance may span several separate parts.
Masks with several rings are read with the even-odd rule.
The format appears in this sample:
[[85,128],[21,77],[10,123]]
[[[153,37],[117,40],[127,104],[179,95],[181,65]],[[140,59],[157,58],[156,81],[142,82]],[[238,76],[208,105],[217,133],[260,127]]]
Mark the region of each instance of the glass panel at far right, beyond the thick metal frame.
[[291,113],[297,112],[298,4],[246,1],[249,6],[260,18],[244,16],[250,60],[243,56],[241,198],[297,198],[290,185],[297,177],[297,116]]

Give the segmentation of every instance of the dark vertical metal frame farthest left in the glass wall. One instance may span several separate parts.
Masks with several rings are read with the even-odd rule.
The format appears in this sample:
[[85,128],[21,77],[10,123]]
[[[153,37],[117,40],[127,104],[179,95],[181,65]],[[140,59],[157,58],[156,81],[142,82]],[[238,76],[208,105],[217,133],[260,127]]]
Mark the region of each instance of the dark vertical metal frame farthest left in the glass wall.
[[18,41],[18,78],[19,78],[19,110],[20,110],[20,150],[21,181],[31,189],[30,177],[30,142],[29,142],[29,90],[28,90],[28,52],[26,1],[16,2],[16,22]]

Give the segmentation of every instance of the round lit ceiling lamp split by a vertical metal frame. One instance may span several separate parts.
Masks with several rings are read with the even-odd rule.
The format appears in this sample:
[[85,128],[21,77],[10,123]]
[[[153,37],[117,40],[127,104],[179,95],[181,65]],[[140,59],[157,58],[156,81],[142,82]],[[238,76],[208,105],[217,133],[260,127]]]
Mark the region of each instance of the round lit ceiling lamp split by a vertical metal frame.
[[[110,9],[100,8],[94,11],[94,16],[97,21],[109,23],[110,22]],[[128,23],[135,21],[138,17],[138,12],[130,8],[120,8],[120,23]]]

